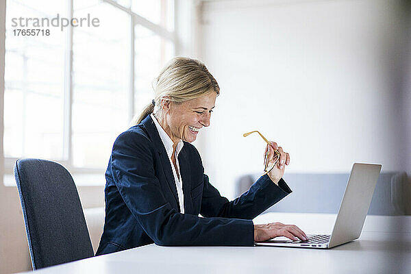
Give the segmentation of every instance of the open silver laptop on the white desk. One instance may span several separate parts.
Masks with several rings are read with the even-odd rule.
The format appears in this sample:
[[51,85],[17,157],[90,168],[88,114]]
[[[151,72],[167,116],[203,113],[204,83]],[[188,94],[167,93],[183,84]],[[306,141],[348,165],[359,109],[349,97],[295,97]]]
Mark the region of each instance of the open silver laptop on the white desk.
[[381,167],[381,164],[353,164],[331,235],[311,234],[307,235],[308,240],[306,241],[280,240],[278,238],[284,239],[284,237],[277,237],[264,242],[254,242],[254,244],[271,247],[329,249],[358,239]]

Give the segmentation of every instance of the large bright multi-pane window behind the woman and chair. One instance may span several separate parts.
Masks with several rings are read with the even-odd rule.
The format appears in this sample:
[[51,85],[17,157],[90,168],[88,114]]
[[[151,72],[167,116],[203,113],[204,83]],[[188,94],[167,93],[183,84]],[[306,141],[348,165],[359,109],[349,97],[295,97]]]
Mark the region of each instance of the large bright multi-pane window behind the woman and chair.
[[[98,27],[12,25],[13,18],[87,16]],[[16,36],[14,29],[50,35]],[[116,136],[151,101],[151,81],[173,55],[172,0],[8,1],[5,184],[14,184],[18,158],[60,162],[77,184],[105,183]]]

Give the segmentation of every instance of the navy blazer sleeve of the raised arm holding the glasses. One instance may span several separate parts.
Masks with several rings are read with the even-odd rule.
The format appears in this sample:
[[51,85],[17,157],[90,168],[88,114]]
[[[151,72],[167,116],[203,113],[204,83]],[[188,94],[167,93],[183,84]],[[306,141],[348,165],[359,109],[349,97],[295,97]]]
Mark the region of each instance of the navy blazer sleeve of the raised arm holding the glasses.
[[269,175],[261,176],[247,192],[234,201],[221,197],[219,190],[210,184],[207,175],[204,175],[203,185],[200,213],[207,217],[251,220],[292,192],[284,179],[280,179],[277,186]]

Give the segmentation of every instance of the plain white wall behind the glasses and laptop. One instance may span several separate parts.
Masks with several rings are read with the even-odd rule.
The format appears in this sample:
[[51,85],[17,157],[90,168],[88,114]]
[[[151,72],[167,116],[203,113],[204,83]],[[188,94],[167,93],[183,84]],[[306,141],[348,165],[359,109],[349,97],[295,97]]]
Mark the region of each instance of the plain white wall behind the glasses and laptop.
[[204,1],[200,57],[221,95],[201,147],[206,172],[233,197],[262,170],[258,129],[290,153],[288,172],[401,166],[403,35],[398,1]]

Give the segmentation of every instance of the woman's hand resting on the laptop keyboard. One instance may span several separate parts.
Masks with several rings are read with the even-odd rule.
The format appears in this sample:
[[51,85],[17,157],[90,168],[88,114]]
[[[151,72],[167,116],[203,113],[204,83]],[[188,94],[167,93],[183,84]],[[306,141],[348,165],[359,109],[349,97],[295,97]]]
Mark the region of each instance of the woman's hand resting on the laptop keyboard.
[[290,240],[308,240],[307,235],[297,225],[284,225],[283,223],[254,225],[255,242],[270,240],[278,236],[284,236]]

